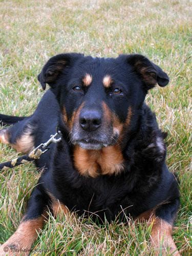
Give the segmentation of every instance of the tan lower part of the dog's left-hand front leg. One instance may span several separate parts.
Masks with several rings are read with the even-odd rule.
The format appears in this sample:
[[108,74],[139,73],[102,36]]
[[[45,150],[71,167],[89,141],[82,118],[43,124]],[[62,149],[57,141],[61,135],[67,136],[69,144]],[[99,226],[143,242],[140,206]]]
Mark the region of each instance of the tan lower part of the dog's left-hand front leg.
[[37,238],[37,233],[44,224],[45,217],[23,221],[14,234],[0,247],[0,255],[5,255],[5,248],[9,255],[28,255]]

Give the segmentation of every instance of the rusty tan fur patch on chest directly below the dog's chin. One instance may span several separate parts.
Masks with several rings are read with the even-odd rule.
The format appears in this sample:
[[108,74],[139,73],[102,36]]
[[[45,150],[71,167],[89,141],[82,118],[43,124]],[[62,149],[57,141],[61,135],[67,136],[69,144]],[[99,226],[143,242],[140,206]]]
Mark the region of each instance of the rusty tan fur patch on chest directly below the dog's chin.
[[74,150],[74,164],[81,175],[97,177],[99,174],[118,174],[123,169],[123,156],[118,145],[102,150],[85,150],[79,146]]

